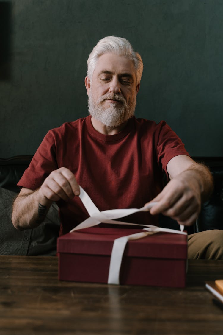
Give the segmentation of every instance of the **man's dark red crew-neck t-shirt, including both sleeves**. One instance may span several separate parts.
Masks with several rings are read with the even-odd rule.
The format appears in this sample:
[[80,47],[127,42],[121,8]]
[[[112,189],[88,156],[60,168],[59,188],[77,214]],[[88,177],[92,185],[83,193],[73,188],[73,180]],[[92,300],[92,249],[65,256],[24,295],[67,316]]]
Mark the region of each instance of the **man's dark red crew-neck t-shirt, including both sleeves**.
[[[93,128],[88,116],[49,130],[18,186],[35,190],[51,171],[64,166],[74,173],[100,211],[140,208],[161,191],[162,173],[177,155],[189,156],[164,121],[156,124],[133,117],[118,134],[104,135]],[[60,235],[89,216],[78,196],[57,204]],[[122,221],[157,225],[157,217],[149,212]]]

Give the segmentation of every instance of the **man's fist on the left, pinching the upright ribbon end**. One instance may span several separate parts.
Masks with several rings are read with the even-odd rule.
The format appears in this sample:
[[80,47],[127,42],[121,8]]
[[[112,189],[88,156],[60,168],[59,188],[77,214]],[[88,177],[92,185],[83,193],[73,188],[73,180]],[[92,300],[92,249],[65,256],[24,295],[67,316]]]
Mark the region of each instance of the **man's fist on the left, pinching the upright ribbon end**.
[[80,194],[80,188],[74,174],[66,167],[61,167],[50,173],[39,188],[38,193],[51,201],[58,201],[59,199],[68,201],[73,199],[75,195]]

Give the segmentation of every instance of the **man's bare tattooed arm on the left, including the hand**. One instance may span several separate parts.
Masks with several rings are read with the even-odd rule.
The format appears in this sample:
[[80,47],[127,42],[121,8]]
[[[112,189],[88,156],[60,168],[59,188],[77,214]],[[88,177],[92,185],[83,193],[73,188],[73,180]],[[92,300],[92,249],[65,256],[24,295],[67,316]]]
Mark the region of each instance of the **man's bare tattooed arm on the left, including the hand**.
[[37,190],[21,189],[13,204],[12,223],[19,230],[34,228],[44,220],[53,201],[68,201],[79,194],[73,173],[61,167],[52,171]]

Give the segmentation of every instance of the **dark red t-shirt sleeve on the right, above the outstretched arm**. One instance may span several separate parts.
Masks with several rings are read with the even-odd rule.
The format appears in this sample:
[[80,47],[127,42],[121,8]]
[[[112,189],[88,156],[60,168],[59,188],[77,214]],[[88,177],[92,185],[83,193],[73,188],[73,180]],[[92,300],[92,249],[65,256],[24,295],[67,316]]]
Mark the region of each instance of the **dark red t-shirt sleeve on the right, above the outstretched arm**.
[[159,123],[156,151],[158,164],[162,166],[166,175],[168,175],[166,165],[173,157],[179,155],[186,155],[190,157],[182,140],[164,121]]

